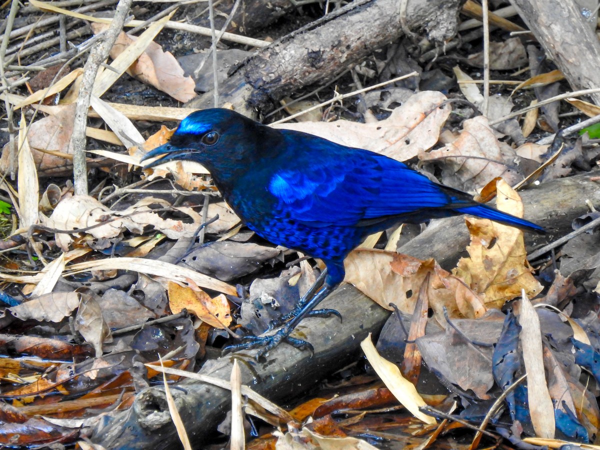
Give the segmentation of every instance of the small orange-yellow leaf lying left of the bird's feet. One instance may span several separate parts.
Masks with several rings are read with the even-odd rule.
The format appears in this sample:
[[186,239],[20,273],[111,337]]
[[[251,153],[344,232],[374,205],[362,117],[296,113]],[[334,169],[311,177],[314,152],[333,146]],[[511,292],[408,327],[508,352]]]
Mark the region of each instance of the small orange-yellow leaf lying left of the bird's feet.
[[226,328],[232,321],[229,302],[223,294],[211,298],[203,290],[195,291],[173,282],[169,283],[169,306],[173,314],[186,309],[219,329]]

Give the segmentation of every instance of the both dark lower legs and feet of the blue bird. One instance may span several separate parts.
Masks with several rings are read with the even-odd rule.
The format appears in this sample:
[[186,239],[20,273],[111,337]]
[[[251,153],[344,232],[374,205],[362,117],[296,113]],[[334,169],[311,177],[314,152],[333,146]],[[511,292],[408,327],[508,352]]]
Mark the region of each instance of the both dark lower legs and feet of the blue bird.
[[[309,349],[311,353],[314,353],[314,348],[310,343],[302,339],[290,337],[290,334],[292,333],[294,328],[296,328],[298,323],[300,323],[301,320],[304,319],[304,317],[329,317],[331,316],[331,314],[335,314],[341,319],[340,313],[338,313],[338,311],[336,310],[324,309],[313,311],[313,308],[316,307],[335,288],[335,286],[331,286],[330,284],[325,283],[320,288],[320,290],[318,290],[317,293],[313,295],[314,291],[317,289],[319,284],[323,283],[325,277],[326,275],[325,273],[323,273],[313,284],[313,286],[311,286],[310,289],[308,289],[308,292],[305,293],[305,295],[302,296],[302,298],[300,299],[298,306],[293,309],[293,316],[289,317],[289,320],[287,320],[287,322],[284,323],[280,329],[268,336],[246,336],[242,338],[245,342],[225,347],[223,349],[223,354],[225,355],[229,352],[236,352],[238,350],[248,350],[256,349],[257,347],[262,347],[256,354],[256,359],[258,360],[266,352],[273,349],[274,347],[277,347],[282,341],[286,341],[287,343],[296,347],[297,349]],[[314,287],[315,285],[317,287]],[[286,317],[290,316],[290,314],[286,314]]]

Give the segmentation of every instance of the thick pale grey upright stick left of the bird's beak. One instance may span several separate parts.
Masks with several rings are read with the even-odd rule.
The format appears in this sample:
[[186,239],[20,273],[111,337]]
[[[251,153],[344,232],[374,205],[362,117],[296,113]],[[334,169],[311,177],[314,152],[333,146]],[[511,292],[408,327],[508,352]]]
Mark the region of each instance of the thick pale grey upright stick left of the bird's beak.
[[88,177],[85,164],[85,128],[88,119],[89,103],[92,95],[94,80],[98,73],[98,68],[104,59],[108,58],[110,49],[116,41],[116,37],[123,28],[125,18],[129,13],[133,0],[119,0],[116,6],[115,17],[113,17],[109,28],[104,33],[103,41],[95,46],[89,53],[88,61],[83,68],[81,87],[79,89],[79,98],[75,109],[75,121],[73,124],[73,187],[75,194],[88,194]]

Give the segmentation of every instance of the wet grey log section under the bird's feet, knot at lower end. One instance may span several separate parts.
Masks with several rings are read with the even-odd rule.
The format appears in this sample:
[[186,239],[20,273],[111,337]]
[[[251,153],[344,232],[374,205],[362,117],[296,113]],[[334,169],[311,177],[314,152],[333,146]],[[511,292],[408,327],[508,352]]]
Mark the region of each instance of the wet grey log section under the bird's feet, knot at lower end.
[[[266,355],[266,361],[254,360],[256,350],[236,352],[206,362],[199,373],[229,380],[233,360],[238,359],[242,383],[269,400],[289,403],[323,377],[356,361],[361,341],[369,332],[379,332],[389,315],[348,284],[325,299],[322,307],[338,310],[344,321],[337,317],[302,321],[295,333],[313,344],[313,356],[281,344]],[[230,392],[193,380],[171,386],[170,391],[191,442],[199,448],[217,434],[217,425],[230,408]],[[178,437],[164,388],[145,389],[129,410],[104,416],[92,430],[91,440],[113,450],[173,448]]]

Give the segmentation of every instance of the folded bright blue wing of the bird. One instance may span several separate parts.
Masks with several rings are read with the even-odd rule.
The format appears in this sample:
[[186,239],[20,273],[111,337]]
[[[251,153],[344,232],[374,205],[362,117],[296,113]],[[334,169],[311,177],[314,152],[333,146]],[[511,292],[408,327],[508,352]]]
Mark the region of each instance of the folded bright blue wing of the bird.
[[[312,136],[302,138],[307,151],[281,164],[284,168],[274,172],[268,184],[294,220],[310,226],[367,226],[390,217],[419,218],[421,211],[451,209],[457,201],[460,206],[475,204],[399,161]],[[297,137],[294,140],[298,145]],[[454,192],[459,197],[449,194]],[[434,216],[425,214],[422,220]]]

